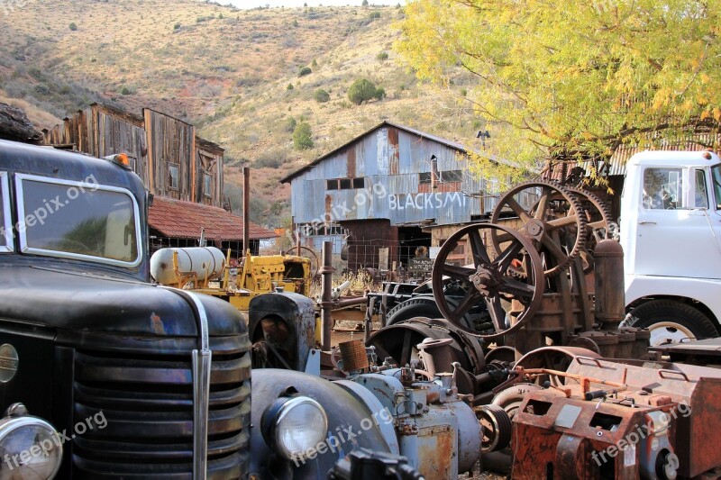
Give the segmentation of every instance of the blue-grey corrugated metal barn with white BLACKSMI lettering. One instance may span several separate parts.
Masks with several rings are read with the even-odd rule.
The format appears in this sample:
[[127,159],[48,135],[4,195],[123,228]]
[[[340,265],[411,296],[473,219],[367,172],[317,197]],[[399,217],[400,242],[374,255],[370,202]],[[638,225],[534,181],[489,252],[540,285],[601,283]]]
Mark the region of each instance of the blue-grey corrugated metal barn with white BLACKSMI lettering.
[[[493,210],[468,150],[423,131],[382,122],[283,178],[304,245],[348,247],[348,267],[407,266],[444,240],[441,227]],[[400,264],[400,265],[398,265]]]

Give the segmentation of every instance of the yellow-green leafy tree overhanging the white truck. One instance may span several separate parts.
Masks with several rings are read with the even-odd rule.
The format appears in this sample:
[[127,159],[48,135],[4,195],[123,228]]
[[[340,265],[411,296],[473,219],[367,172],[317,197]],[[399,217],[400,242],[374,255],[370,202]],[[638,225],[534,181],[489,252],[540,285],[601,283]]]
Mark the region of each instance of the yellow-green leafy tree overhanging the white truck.
[[468,100],[513,130],[490,153],[607,158],[721,120],[721,3],[689,0],[414,0],[398,51],[418,77],[476,76]]

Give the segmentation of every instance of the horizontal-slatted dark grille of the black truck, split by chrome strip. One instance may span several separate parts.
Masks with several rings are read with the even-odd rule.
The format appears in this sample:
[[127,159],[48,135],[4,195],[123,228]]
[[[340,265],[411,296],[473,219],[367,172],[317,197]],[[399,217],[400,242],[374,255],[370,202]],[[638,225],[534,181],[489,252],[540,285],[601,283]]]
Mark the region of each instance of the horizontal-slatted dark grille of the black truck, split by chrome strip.
[[[250,462],[250,344],[244,334],[211,338],[210,347],[207,477],[244,478]],[[75,478],[192,478],[190,353],[76,351],[73,418],[76,427],[94,427],[72,440]],[[103,419],[105,428],[98,428]]]

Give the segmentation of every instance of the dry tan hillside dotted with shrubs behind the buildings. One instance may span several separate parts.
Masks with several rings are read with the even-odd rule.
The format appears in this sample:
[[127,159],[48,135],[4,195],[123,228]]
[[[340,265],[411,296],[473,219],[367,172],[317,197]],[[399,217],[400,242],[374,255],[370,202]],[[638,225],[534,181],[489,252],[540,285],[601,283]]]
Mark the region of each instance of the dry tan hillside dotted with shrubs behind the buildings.
[[[239,169],[250,165],[253,220],[276,226],[289,198],[278,178],[383,119],[475,141],[478,125],[457,108],[468,78],[441,91],[418,85],[397,61],[391,49],[402,15],[399,6],[28,2],[0,14],[0,101],[25,109],[41,128],[93,101],[194,122],[227,149],[233,204],[240,205]],[[300,76],[304,67],[311,73]],[[351,104],[348,88],[360,77],[386,97]],[[328,101],[315,100],[318,89]],[[310,124],[313,148],[293,149],[291,119]]]

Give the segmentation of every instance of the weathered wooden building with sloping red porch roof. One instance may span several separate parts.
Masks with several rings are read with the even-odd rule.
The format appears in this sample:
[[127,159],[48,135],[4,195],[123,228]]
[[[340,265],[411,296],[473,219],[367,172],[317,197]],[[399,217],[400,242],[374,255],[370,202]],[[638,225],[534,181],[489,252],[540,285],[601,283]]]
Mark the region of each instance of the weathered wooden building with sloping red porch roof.
[[[144,108],[141,115],[91,104],[61,125],[42,131],[47,145],[94,157],[126,153],[132,170],[155,197],[149,226],[151,253],[162,247],[198,245],[201,229],[209,244],[242,252],[242,217],[226,212],[224,149],[196,135],[196,127]],[[251,251],[277,235],[251,223]]]

